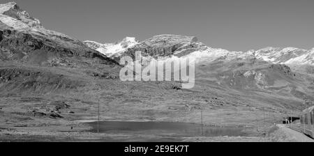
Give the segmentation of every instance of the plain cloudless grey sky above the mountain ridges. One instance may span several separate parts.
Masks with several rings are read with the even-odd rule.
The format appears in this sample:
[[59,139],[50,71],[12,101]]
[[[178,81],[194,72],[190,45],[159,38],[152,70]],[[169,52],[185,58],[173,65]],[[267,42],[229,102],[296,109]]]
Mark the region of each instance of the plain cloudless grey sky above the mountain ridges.
[[[1,0],[6,3],[8,0]],[[47,29],[79,40],[170,33],[210,47],[314,47],[313,0],[15,0]]]

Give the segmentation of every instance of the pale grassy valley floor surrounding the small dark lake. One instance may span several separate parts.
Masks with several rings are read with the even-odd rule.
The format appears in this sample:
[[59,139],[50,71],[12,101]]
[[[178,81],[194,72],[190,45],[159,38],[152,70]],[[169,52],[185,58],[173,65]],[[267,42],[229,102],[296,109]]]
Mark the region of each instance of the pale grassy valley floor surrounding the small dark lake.
[[[287,96],[202,82],[177,90],[170,82],[122,82],[90,70],[1,65],[0,141],[287,141],[274,123],[298,113],[285,109],[296,103]],[[204,125],[243,127],[248,135],[95,134],[82,120],[97,120],[98,104],[100,120],[200,124],[202,118]]]

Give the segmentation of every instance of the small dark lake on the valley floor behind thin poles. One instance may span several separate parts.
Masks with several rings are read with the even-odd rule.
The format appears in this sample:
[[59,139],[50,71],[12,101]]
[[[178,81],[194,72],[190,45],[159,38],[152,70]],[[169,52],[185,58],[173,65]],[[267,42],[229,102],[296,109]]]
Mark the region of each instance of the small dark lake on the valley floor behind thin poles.
[[[93,127],[91,132],[97,132],[97,122],[88,124]],[[108,134],[128,133],[198,137],[202,136],[202,126],[190,123],[102,121],[99,123],[99,132]],[[203,136],[246,136],[246,134],[243,132],[243,128],[239,127],[203,126]]]

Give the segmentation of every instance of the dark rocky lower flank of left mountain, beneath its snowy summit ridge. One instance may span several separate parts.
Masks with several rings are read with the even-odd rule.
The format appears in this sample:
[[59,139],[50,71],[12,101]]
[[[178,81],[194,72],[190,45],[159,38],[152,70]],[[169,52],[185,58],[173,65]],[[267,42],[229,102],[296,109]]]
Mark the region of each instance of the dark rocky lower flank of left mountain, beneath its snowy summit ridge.
[[[0,23],[1,24],[1,23]],[[6,28],[6,29],[3,29]],[[86,47],[78,41],[50,40],[50,36],[38,36],[0,27],[0,59],[23,60],[28,63],[43,63],[55,58],[99,59],[101,63],[116,64],[107,56]]]

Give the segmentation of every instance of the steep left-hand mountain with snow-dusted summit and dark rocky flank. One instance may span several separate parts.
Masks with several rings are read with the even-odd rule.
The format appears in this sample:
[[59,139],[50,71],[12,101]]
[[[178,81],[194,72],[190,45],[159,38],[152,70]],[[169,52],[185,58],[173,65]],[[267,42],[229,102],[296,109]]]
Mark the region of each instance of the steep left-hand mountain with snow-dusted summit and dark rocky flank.
[[39,20],[31,17],[17,3],[0,5],[1,60],[42,64],[64,62],[65,57],[80,61],[82,58],[98,59],[103,63],[114,64],[107,56],[79,40],[45,29]]

